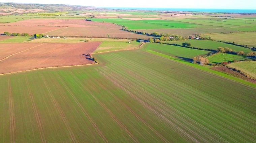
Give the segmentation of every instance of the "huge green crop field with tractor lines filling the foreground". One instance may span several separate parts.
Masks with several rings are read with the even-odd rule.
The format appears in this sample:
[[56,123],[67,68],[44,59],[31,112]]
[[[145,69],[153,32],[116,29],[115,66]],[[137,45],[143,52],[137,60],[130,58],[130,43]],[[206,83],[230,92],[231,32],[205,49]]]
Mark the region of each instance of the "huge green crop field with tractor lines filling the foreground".
[[0,140],[256,140],[255,88],[143,49],[94,54],[98,65],[0,76]]

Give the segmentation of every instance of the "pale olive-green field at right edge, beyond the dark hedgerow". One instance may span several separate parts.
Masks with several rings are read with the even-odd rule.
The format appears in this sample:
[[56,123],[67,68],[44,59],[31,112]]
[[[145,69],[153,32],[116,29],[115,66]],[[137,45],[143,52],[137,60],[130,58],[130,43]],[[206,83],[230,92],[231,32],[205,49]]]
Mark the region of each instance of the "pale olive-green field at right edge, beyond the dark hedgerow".
[[247,45],[249,47],[256,47],[256,32],[237,32],[230,34],[205,34],[203,36],[211,36],[214,40],[235,42],[236,44]]

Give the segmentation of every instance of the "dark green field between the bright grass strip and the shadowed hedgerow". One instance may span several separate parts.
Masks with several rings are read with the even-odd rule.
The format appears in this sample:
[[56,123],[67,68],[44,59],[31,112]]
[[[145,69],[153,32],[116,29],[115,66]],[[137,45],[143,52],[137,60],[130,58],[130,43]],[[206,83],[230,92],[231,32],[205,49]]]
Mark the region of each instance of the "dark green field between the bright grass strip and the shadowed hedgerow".
[[182,59],[184,61],[193,61],[193,57],[195,56],[209,56],[211,54],[210,51],[202,51],[196,49],[189,49],[180,46],[172,46],[165,44],[157,44],[157,43],[148,43],[142,49],[144,51],[152,50],[159,53],[163,53],[169,55],[171,57],[175,57],[178,59]]

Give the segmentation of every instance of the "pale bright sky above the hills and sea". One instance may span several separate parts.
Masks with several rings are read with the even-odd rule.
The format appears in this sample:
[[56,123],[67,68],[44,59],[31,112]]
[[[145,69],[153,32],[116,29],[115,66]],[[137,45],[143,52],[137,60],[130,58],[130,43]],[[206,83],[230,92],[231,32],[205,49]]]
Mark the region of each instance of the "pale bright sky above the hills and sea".
[[256,0],[3,0],[4,2],[69,4],[95,7],[256,9]]

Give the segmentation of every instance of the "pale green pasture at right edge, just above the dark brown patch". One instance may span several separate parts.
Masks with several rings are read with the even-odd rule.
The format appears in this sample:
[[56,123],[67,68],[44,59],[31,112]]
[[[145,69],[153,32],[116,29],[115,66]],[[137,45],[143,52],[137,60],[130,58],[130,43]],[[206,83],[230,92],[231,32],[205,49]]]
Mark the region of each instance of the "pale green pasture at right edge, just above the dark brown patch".
[[236,62],[228,64],[228,66],[239,69],[256,79],[256,61]]

